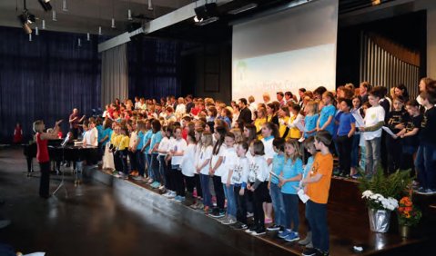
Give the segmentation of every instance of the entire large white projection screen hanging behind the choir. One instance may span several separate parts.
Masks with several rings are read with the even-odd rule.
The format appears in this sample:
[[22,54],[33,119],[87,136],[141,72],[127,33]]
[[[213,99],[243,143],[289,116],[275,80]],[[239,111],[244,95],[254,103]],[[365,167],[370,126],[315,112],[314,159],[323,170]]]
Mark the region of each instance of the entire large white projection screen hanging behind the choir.
[[335,90],[338,0],[316,0],[233,25],[232,99],[318,86]]

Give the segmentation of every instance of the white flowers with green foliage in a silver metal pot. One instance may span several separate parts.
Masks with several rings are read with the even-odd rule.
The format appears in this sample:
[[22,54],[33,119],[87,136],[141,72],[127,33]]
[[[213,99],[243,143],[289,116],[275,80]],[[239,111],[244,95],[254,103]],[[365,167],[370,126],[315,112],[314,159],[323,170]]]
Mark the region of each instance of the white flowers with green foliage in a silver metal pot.
[[362,175],[359,188],[362,198],[368,205],[371,231],[389,231],[390,213],[398,208],[398,199],[410,184],[410,171],[397,171],[385,175],[379,166],[372,177]]

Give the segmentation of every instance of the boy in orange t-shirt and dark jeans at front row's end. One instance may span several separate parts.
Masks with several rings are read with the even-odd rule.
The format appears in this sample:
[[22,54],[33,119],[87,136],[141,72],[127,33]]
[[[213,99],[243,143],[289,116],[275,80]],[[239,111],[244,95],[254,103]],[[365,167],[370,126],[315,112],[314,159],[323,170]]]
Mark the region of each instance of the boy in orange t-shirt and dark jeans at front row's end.
[[327,201],[329,199],[333,156],[329,151],[331,135],[319,131],[315,135],[315,155],[312,169],[301,183],[307,184],[306,218],[312,230],[313,248],[303,251],[302,255],[329,255],[329,228],[327,226]]

